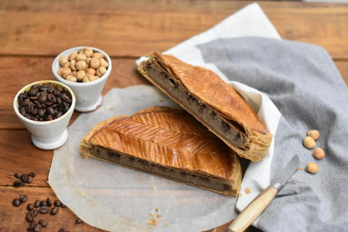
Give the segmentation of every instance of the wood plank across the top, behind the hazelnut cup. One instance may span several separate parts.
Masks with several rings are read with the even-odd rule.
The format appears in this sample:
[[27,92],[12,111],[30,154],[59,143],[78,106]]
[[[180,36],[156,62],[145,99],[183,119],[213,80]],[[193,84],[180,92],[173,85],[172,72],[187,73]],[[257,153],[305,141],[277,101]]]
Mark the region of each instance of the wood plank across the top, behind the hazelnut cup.
[[[139,57],[171,48],[252,2],[2,0],[0,54],[57,55],[89,45],[111,56]],[[259,3],[282,38],[318,44],[333,58],[348,58],[347,5]]]

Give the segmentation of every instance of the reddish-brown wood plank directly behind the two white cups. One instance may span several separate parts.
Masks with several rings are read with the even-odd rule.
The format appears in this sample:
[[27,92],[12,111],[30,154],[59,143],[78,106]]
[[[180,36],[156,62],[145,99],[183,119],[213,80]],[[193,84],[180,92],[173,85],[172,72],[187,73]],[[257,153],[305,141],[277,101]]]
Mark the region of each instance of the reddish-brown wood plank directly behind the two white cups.
[[[53,58],[44,57],[0,57],[0,129],[25,129],[14,113],[13,98],[23,86],[38,80],[54,80],[51,72]],[[337,61],[338,70],[348,85],[348,61]],[[18,68],[20,67],[20,68]],[[15,81],[20,80],[20,81]],[[103,89],[132,85],[152,85],[136,70],[134,59],[112,59],[112,71]],[[74,112],[70,124],[80,115]]]

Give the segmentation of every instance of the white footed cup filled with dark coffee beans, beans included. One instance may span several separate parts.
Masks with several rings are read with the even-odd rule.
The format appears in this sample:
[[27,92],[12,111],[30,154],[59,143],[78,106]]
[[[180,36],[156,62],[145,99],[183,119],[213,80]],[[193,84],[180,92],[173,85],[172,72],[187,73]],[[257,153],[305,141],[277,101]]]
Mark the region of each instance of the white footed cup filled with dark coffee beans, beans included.
[[15,96],[13,108],[40,149],[52,150],[68,139],[68,127],[76,98],[69,86],[58,81],[37,81]]

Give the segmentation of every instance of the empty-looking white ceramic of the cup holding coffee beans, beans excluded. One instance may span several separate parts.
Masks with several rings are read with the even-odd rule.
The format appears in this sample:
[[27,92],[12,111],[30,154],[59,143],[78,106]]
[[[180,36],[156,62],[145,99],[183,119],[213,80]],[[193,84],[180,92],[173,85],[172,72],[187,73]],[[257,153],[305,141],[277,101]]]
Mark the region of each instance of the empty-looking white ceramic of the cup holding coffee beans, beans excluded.
[[[72,99],[70,109],[62,117],[54,119],[52,121],[39,122],[25,118],[21,113],[19,113],[18,110],[18,95],[23,93],[25,90],[29,90],[33,85],[42,85],[43,83],[48,82],[52,82],[60,87],[68,89]],[[69,86],[66,86],[58,81],[36,81],[30,83],[29,85],[23,87],[18,91],[13,101],[13,109],[15,110],[19,120],[21,120],[25,127],[30,131],[31,141],[33,142],[33,144],[40,149],[52,150],[62,146],[66,142],[66,140],[68,140],[68,130],[66,129],[66,127],[68,127],[71,115],[74,111],[75,102],[75,95],[69,88]]]

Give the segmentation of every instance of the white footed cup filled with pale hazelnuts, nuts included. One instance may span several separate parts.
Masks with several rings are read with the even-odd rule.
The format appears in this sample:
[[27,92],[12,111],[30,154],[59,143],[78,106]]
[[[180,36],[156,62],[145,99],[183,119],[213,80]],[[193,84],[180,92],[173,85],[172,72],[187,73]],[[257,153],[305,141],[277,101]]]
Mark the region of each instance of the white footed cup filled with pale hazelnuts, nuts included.
[[52,73],[57,81],[74,92],[75,110],[91,112],[102,104],[102,90],[111,67],[111,59],[104,51],[94,47],[74,47],[54,59]]

